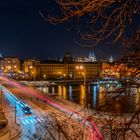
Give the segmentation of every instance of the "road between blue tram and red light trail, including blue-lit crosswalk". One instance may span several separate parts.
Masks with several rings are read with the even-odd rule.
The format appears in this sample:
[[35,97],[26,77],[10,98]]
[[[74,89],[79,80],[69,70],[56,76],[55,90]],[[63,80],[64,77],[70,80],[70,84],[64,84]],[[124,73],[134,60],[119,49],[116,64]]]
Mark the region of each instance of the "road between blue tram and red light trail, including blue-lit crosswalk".
[[[32,94],[13,85],[6,83],[4,86],[20,100],[24,100],[32,108],[32,116],[24,116],[17,108],[17,122],[20,123],[23,128],[21,136],[18,137],[19,140],[65,140],[66,137],[69,137],[74,133],[79,133],[81,130],[83,132],[85,131],[84,135],[87,135],[83,125],[58,109],[53,108],[44,102],[42,103],[40,100],[37,101]],[[11,109],[13,110],[14,108]],[[65,134],[64,130],[61,130],[60,132],[59,129],[62,129],[60,124],[63,125],[63,129],[65,129],[66,132],[69,132],[69,134]],[[56,126],[60,128],[58,129]],[[86,137],[83,137],[82,139],[84,140]]]

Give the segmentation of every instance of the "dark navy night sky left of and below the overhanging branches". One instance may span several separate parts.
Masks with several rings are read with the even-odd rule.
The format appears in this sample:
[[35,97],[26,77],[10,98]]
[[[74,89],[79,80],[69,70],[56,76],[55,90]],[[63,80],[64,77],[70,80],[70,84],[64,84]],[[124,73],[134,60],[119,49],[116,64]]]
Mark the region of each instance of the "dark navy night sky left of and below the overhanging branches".
[[[63,57],[65,52],[74,57],[88,55],[89,49],[77,45],[76,31],[69,31],[73,25],[51,25],[39,11],[47,14],[56,9],[52,0],[1,0],[0,52],[4,56],[47,59]],[[107,44],[99,46],[95,54],[115,56],[115,49],[109,48]]]

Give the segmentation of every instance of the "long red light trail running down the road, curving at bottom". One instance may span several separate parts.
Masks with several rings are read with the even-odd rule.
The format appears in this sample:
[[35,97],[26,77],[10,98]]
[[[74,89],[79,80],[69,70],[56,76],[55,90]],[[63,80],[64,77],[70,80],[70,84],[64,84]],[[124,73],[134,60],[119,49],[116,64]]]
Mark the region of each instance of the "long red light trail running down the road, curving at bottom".
[[30,94],[32,94],[36,98],[39,98],[42,101],[47,102],[49,105],[57,108],[58,110],[71,116],[72,118],[76,119],[77,121],[84,123],[88,127],[88,130],[89,130],[89,136],[88,136],[89,140],[103,140],[104,139],[103,135],[101,134],[101,132],[99,131],[99,129],[97,128],[97,126],[95,125],[95,123],[92,120],[90,120],[90,121],[87,120],[87,118],[82,116],[80,113],[75,112],[70,108],[66,108],[66,107],[64,107],[64,106],[62,106],[54,101],[51,101],[47,97],[44,97],[43,95],[38,94],[38,92],[36,92],[35,90],[29,89],[25,85],[19,84],[18,82],[14,81],[14,80],[9,80],[6,77],[3,77],[3,80],[7,81],[8,83],[28,92]]

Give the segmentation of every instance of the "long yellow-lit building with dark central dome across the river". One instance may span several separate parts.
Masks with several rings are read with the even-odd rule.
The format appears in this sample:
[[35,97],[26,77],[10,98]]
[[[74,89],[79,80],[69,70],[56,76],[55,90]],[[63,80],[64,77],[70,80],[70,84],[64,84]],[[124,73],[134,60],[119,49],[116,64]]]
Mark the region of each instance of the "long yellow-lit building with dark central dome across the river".
[[83,66],[86,78],[93,79],[99,76],[102,70],[100,62],[74,62],[70,53],[64,55],[63,61],[46,61],[36,65],[37,79],[81,79],[84,71],[77,70],[76,66]]

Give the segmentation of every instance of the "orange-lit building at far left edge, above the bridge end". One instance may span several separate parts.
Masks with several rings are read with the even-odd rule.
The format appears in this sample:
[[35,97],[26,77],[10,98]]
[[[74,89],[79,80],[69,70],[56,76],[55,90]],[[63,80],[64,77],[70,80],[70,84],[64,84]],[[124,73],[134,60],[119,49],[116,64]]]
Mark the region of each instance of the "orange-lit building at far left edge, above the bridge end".
[[15,77],[20,70],[20,61],[17,57],[5,57],[3,58],[3,71],[4,73]]

